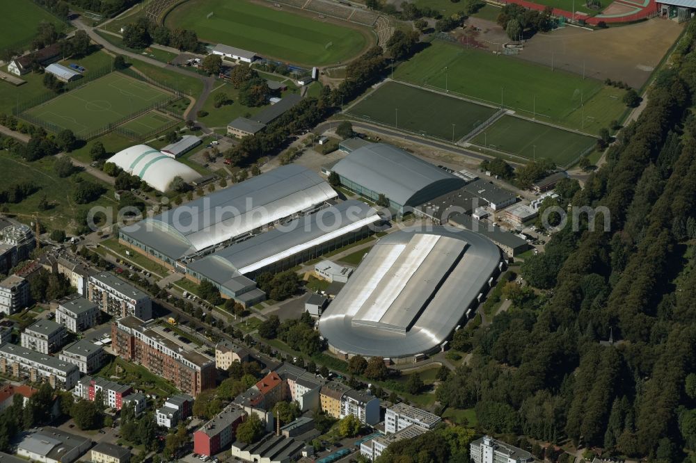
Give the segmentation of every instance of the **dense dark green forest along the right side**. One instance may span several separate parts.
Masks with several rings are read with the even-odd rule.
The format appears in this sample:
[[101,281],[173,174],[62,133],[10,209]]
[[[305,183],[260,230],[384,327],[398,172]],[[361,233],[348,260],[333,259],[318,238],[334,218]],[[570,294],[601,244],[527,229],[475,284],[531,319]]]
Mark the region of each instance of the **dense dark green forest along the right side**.
[[457,332],[473,358],[436,393],[475,407],[483,430],[696,462],[695,38],[691,22],[607,163],[562,198],[608,208],[610,232],[601,214],[569,220],[521,268],[537,288]]

